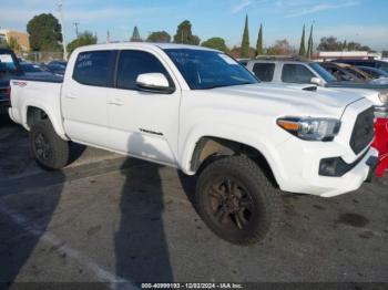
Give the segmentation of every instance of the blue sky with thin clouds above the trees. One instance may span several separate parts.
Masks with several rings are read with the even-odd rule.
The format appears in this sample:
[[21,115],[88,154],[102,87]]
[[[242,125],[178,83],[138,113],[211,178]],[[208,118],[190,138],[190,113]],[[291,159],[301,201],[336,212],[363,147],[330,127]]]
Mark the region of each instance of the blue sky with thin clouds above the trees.
[[[60,0],[0,0],[0,28],[25,31],[39,13],[59,17]],[[221,37],[228,46],[239,45],[245,15],[249,18],[251,45],[255,46],[259,24],[264,44],[287,39],[299,46],[302,28],[314,23],[314,42],[334,35],[357,41],[374,50],[388,50],[388,0],[62,0],[67,41],[79,31],[96,33],[99,42],[125,41],[137,25],[142,38],[165,30],[171,35],[183,20],[192,22],[201,40]]]

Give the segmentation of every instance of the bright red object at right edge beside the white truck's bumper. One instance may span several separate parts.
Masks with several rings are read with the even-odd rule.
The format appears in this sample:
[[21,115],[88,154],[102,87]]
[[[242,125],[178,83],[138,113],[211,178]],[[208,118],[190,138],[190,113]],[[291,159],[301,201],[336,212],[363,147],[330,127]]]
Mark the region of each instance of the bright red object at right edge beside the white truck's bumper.
[[375,131],[374,147],[379,151],[379,165],[376,168],[376,175],[382,177],[388,168],[388,118],[378,117]]

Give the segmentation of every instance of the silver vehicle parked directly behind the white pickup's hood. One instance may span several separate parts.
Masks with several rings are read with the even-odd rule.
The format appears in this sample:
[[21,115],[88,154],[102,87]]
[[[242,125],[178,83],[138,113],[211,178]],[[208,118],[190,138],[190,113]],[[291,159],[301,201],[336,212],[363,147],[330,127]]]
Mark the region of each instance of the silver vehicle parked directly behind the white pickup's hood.
[[376,114],[388,114],[388,85],[339,82],[319,63],[293,59],[252,60],[247,69],[263,82],[278,84],[314,84],[343,92],[360,93],[376,106]]

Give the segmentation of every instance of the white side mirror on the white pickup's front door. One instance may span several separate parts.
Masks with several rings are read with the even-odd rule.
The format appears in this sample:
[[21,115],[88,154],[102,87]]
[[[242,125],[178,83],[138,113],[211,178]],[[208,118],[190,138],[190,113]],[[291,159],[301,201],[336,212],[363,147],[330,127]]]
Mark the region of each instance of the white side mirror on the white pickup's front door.
[[170,86],[169,80],[163,73],[139,74],[136,85],[141,91],[151,93],[170,94],[175,90]]

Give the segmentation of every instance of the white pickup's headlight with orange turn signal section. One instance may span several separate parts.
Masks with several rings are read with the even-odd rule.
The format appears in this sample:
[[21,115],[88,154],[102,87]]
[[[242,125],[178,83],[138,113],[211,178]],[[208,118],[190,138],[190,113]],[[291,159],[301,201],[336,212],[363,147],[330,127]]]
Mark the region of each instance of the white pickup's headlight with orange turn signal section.
[[282,117],[276,123],[288,133],[307,141],[333,141],[340,127],[340,121],[335,118]]

